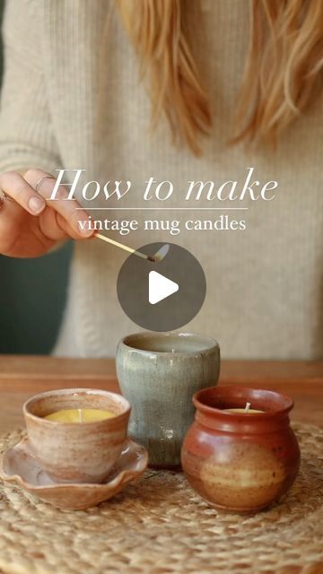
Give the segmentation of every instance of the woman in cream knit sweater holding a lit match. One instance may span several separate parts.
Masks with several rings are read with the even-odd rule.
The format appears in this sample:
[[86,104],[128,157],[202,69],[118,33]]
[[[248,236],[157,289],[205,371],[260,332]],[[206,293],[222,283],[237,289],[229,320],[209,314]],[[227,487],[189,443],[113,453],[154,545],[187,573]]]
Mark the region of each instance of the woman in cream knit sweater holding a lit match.
[[[140,208],[151,177],[179,191],[192,180],[242,186],[253,167],[279,193],[247,200],[246,230],[176,237],[208,286],[186,328],[217,337],[226,357],[323,357],[322,22],[316,0],[7,2],[0,252],[37,257],[77,239],[57,354],[112,355],[137,327],[118,306],[124,254],[80,232],[87,213],[64,201],[63,187],[63,199],[45,205],[55,185],[45,174],[83,169],[83,182],[101,186],[130,180],[124,205]],[[65,176],[71,182],[73,172]],[[80,189],[75,196],[89,207]],[[168,205],[183,207],[183,195]],[[144,222],[145,212],[121,213]],[[185,223],[187,213],[162,218]],[[128,243],[160,240],[169,232],[140,228]]]

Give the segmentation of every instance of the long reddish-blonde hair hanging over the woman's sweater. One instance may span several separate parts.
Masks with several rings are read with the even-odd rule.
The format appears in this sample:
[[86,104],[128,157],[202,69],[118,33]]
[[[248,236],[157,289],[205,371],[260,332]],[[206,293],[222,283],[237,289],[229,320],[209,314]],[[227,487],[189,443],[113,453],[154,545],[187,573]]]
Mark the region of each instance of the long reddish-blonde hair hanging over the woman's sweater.
[[[153,126],[164,112],[173,138],[198,155],[212,117],[188,43],[185,0],[116,2],[142,74],[150,75]],[[250,4],[249,50],[231,142],[275,142],[310,103],[321,79],[323,1]]]

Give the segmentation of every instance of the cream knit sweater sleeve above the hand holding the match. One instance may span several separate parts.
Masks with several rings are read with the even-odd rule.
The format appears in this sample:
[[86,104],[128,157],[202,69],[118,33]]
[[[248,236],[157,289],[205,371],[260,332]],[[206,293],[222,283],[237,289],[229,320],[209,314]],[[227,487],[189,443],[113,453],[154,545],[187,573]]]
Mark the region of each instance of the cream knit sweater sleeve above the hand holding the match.
[[24,168],[53,172],[60,166],[42,65],[42,4],[37,0],[6,2],[0,172]]

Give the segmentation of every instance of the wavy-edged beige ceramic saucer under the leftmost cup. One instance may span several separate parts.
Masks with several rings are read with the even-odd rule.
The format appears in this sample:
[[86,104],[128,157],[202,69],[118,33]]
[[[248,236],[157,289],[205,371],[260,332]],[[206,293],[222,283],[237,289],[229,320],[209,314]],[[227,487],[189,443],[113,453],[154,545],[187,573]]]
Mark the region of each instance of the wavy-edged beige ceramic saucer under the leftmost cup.
[[145,448],[127,439],[104,483],[55,483],[39,465],[26,437],[4,452],[0,462],[0,476],[5,482],[20,485],[57,508],[82,510],[117,494],[127,483],[144,473],[147,463],[148,453]]

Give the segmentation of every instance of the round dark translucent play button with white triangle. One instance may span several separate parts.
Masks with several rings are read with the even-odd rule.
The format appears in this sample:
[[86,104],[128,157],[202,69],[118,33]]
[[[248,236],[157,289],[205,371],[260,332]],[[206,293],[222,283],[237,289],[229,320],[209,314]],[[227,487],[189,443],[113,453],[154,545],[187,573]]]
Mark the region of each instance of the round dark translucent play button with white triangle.
[[174,243],[149,243],[138,251],[162,260],[150,261],[135,254],[127,257],[117,282],[118,300],[136,325],[150,331],[172,331],[191,321],[205,300],[202,266],[188,249]]

